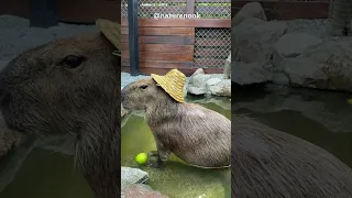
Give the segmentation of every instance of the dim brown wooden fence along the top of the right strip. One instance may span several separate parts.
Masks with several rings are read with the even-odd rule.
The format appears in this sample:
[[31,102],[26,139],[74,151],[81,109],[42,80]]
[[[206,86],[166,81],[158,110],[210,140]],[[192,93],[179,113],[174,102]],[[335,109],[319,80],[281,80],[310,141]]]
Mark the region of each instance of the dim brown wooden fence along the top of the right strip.
[[[248,2],[237,0],[231,3],[231,14],[234,14]],[[329,15],[329,0],[260,0],[268,20],[294,19],[327,19]]]

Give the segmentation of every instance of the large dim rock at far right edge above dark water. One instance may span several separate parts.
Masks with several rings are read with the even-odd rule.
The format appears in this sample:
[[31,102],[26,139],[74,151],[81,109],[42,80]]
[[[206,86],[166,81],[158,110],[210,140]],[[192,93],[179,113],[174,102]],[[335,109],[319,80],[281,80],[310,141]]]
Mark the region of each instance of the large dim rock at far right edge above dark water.
[[352,40],[324,42],[283,67],[294,86],[352,92]]

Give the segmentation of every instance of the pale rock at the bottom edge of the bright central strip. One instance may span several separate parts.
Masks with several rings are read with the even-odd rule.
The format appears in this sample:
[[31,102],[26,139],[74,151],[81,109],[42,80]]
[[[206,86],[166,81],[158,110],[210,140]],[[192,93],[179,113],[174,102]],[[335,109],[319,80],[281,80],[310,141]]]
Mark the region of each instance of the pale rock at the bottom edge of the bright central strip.
[[128,185],[121,189],[121,198],[168,198],[167,196],[153,190],[147,185]]

